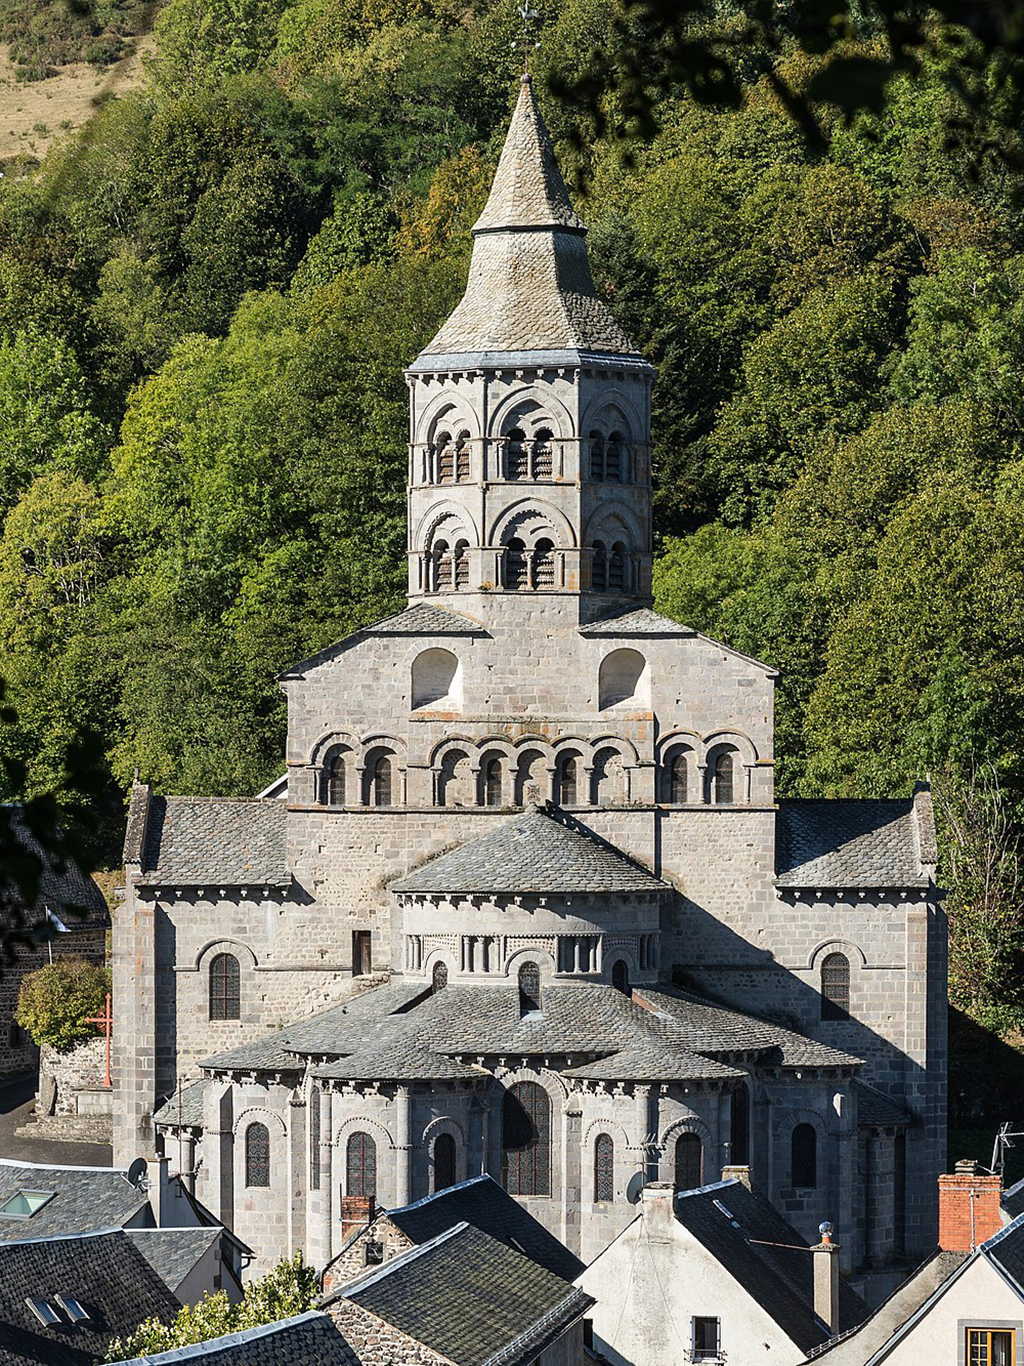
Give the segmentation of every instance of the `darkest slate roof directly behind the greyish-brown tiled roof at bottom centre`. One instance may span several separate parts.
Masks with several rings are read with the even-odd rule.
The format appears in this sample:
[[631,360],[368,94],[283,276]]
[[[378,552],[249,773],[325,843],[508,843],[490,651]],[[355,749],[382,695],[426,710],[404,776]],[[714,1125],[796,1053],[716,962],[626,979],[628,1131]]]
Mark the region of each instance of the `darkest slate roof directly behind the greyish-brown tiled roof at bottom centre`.
[[414,1205],[388,1210],[388,1218],[414,1243],[429,1243],[456,1224],[471,1224],[505,1247],[516,1247],[565,1281],[575,1280],[586,1265],[493,1176],[474,1176]]

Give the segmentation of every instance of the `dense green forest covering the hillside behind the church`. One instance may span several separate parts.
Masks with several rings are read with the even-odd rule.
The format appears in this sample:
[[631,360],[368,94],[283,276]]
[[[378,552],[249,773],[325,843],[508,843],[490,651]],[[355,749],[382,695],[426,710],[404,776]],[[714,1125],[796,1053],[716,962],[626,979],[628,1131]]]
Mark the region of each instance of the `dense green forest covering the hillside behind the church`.
[[[538,10],[598,287],[658,367],[655,605],[781,671],[780,795],[931,779],[953,1000],[1014,1026],[1019,139],[950,139],[939,51],[816,145],[778,97],[821,67],[796,44],[743,49],[739,104],[664,83],[629,137],[613,85],[565,93],[614,67],[614,7]],[[3,168],[0,770],[27,779],[0,799],[94,806],[97,735],[108,863],[135,772],[258,791],[274,673],[403,600],[401,370],[461,292],[519,27],[511,0],[167,0],[145,83]]]

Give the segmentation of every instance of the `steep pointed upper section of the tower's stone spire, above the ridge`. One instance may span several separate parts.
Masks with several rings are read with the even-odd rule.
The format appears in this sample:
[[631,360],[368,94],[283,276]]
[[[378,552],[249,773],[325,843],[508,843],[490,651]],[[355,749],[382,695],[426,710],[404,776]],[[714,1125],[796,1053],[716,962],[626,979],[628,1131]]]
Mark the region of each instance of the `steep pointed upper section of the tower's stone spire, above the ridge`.
[[523,76],[487,204],[472,231],[515,228],[586,231],[569,201],[528,75]]

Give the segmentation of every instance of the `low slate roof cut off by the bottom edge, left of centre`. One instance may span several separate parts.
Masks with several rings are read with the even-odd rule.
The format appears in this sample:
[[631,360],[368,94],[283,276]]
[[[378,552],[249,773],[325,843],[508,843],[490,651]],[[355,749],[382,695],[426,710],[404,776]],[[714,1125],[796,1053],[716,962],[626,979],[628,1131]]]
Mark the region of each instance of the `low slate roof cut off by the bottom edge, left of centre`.
[[[359,1366],[337,1325],[317,1310],[262,1324],[240,1333],[227,1333],[193,1347],[132,1356],[135,1366],[173,1366],[201,1362],[202,1366]],[[128,1363],[131,1366],[131,1363]]]

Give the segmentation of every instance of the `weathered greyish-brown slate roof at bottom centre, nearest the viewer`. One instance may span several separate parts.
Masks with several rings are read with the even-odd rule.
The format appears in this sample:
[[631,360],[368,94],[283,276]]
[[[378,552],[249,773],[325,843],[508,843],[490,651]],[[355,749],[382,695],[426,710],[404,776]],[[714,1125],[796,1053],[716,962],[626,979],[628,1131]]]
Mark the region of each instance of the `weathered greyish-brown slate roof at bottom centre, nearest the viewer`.
[[[325,1303],[348,1299],[455,1366],[534,1361],[594,1305],[538,1262],[471,1224],[392,1258]],[[505,1350],[515,1343],[515,1350]]]

